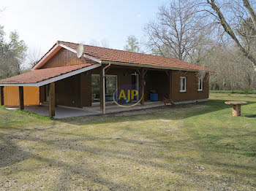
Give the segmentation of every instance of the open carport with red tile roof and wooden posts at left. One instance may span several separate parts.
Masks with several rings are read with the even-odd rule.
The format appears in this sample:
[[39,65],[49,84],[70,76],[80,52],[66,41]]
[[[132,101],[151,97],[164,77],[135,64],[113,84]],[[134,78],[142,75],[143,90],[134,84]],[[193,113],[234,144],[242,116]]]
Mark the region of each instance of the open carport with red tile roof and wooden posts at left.
[[[0,83],[0,104],[4,106],[4,87],[18,87],[18,91],[12,91],[12,94],[18,93],[19,109],[25,108],[24,104],[24,87],[42,87],[49,86],[48,114],[50,117],[56,114],[56,82],[61,79],[81,74],[91,69],[101,66],[99,63],[86,63],[74,66],[61,66],[49,69],[33,70],[25,74],[1,80]],[[68,87],[67,87],[68,88]],[[5,88],[7,90],[7,88]],[[10,88],[9,88],[10,89]],[[13,89],[13,88],[12,88]],[[30,95],[33,96],[33,95]],[[37,96],[36,94],[34,96]],[[36,98],[37,99],[37,98]],[[28,104],[29,105],[29,104]],[[43,109],[45,110],[45,109]],[[58,109],[64,111],[63,109]],[[72,109],[75,111],[75,109]],[[57,111],[58,112],[58,111]],[[67,112],[67,109],[66,109]],[[86,114],[85,112],[83,112]],[[83,115],[83,114],[82,114]],[[74,116],[75,117],[75,116]]]

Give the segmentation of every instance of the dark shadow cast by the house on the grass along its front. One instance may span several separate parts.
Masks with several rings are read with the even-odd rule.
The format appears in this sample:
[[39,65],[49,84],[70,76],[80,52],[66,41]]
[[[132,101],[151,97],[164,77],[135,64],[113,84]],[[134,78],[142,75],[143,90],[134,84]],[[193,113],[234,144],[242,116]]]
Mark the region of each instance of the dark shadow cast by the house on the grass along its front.
[[[222,109],[232,109],[232,106],[224,104],[227,100],[209,100],[207,102],[200,102],[195,104],[182,104],[182,105],[176,105],[176,106],[163,106],[162,109],[149,109],[150,112],[146,113],[138,113],[132,114],[133,112],[121,112],[119,114],[106,114],[100,115],[100,116],[83,116],[83,117],[70,117],[66,119],[61,119],[59,121],[66,122],[72,125],[98,125],[98,124],[104,124],[108,122],[126,122],[126,121],[136,121],[136,120],[148,120],[148,117],[143,116],[150,116],[151,120],[161,119],[161,120],[181,120],[185,119],[187,117],[193,117],[195,115],[200,114],[207,114],[210,112],[217,112]],[[249,104],[255,104],[256,101],[247,101]],[[205,106],[203,108],[197,108],[197,106]],[[184,114],[176,114],[175,112],[178,111],[178,109],[185,109]],[[162,112],[165,112],[165,114],[162,114]],[[169,113],[168,113],[169,112]],[[232,110],[230,110],[230,113]],[[126,117],[129,116],[129,118]],[[162,115],[161,115],[162,114]],[[170,115],[171,114],[171,115]],[[173,114],[173,115],[172,115]]]

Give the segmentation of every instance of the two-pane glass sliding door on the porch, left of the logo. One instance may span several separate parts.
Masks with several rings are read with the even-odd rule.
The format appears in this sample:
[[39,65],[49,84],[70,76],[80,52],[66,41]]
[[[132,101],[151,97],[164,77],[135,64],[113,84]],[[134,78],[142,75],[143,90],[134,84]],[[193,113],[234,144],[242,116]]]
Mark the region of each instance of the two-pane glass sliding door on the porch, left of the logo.
[[[91,75],[91,101],[93,103],[99,102],[99,74]],[[117,89],[117,76],[105,76],[105,101],[113,101],[113,93]]]

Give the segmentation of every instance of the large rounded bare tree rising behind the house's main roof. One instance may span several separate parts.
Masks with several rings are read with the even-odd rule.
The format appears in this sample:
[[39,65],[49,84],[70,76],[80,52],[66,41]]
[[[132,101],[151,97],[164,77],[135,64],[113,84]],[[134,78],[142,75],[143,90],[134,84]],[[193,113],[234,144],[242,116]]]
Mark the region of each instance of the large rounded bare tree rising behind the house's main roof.
[[159,7],[157,20],[144,28],[146,45],[157,55],[194,60],[196,47],[206,44],[211,35],[197,9],[197,1],[190,0],[175,0]]

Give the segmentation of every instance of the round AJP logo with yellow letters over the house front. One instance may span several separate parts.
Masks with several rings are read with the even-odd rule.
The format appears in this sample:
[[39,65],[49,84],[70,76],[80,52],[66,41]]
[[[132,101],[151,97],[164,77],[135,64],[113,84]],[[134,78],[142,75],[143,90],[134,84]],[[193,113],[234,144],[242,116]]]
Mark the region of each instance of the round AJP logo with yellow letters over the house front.
[[113,93],[113,101],[122,107],[136,106],[143,98],[143,93],[136,85],[124,85],[118,87]]

